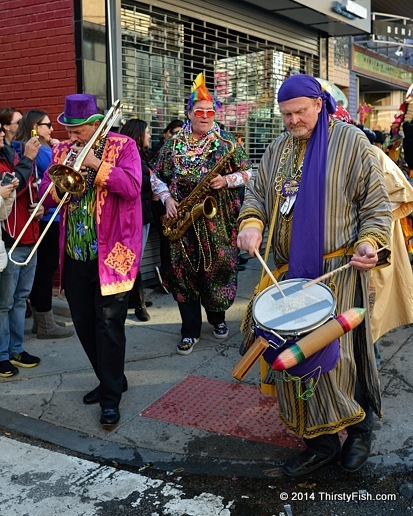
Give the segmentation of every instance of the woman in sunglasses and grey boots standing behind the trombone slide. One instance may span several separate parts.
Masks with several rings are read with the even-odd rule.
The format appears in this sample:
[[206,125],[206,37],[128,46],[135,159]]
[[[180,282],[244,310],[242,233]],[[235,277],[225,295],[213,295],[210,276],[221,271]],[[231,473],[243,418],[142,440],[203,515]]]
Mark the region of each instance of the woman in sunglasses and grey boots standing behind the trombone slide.
[[[30,109],[19,122],[13,147],[18,154],[24,152],[26,142],[36,134],[40,149],[34,162],[35,183],[38,185],[52,160],[52,147],[59,140],[52,137],[53,125],[49,115],[42,109]],[[33,200],[33,204],[36,203]],[[32,208],[29,208],[29,211]],[[50,208],[40,220],[40,234],[44,231],[55,208]],[[37,250],[36,274],[30,304],[33,312],[32,333],[38,339],[62,339],[73,335],[73,330],[57,323],[53,317],[53,277],[59,263],[59,215],[50,225]]]

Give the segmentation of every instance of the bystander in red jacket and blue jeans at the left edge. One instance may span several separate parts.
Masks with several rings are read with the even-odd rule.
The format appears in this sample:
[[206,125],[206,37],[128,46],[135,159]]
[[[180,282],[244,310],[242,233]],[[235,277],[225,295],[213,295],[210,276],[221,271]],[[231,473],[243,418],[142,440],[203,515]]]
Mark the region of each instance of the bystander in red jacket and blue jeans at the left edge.
[[[9,113],[0,110],[2,128],[10,124]],[[40,149],[39,140],[34,137],[26,143],[23,156],[19,156],[6,142],[4,132],[0,137],[0,173],[2,178],[13,175],[16,186],[16,200],[2,228],[2,237],[6,251],[10,250],[17,237],[22,233],[31,213],[37,206],[37,192],[34,186],[33,162]],[[39,238],[39,219],[43,208],[37,212],[35,219],[22,235],[20,244],[13,253],[16,262],[24,262]],[[0,376],[8,378],[16,375],[17,367],[30,368],[39,364],[40,358],[23,349],[24,320],[26,299],[30,294],[36,270],[36,255],[25,267],[20,267],[8,260],[7,266],[0,274]],[[17,367],[16,367],[17,366]]]

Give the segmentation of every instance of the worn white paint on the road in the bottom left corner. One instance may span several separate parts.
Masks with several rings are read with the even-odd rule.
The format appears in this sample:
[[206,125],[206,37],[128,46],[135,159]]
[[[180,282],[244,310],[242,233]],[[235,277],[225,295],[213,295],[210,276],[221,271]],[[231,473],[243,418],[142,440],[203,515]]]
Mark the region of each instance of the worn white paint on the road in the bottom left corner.
[[[153,506],[162,516],[230,516],[221,497],[189,499],[182,486],[0,437],[0,514],[94,516],[102,504]],[[101,512],[102,511],[102,512]],[[159,511],[159,512],[158,512]],[[113,512],[115,514],[115,512]]]

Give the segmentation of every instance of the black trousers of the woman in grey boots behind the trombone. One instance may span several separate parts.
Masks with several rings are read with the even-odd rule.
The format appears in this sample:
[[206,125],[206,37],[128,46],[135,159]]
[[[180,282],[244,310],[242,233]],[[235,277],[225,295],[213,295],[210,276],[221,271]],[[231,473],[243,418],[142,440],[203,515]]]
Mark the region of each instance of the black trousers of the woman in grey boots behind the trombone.
[[[40,221],[40,233],[43,233],[47,224],[48,221]],[[38,312],[50,312],[52,309],[53,277],[58,264],[59,222],[52,222],[37,249],[36,274],[29,297]]]

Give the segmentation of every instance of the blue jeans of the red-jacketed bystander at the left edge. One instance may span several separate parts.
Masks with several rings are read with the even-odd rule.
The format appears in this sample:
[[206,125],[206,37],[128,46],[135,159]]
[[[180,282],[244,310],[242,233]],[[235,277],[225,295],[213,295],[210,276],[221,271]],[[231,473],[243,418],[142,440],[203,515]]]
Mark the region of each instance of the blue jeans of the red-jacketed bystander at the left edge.
[[[24,262],[33,245],[22,245],[13,251],[13,259]],[[9,360],[23,351],[26,299],[32,289],[37,253],[27,265],[10,260],[0,273],[0,361]]]

